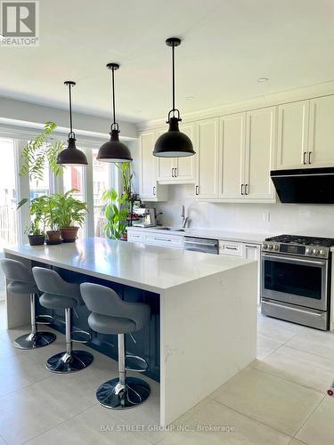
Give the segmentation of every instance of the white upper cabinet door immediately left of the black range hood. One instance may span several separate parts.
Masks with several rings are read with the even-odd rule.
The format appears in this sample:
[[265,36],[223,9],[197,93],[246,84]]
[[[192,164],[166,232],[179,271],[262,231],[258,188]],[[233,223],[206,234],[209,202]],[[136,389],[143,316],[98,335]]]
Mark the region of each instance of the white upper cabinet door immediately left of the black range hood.
[[276,107],[247,113],[245,199],[274,199]]

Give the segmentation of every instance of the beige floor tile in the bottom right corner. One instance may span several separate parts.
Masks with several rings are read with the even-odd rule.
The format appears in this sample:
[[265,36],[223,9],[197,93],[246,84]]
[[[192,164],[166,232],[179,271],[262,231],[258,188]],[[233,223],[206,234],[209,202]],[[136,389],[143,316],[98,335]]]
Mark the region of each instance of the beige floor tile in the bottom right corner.
[[334,443],[334,398],[325,397],[302,429],[297,439],[309,445],[333,445]]

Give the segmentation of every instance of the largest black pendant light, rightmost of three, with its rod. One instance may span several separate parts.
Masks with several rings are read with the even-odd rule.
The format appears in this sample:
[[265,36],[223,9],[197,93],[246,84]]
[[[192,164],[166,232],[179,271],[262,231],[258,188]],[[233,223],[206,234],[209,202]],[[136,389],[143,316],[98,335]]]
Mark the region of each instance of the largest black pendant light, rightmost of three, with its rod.
[[[175,109],[175,46],[181,44],[181,39],[170,37],[166,40],[167,46],[172,47],[173,61],[173,108],[168,113],[167,124],[169,129],[167,133],[161,134],[154,146],[153,155],[160,158],[183,158],[185,156],[195,155],[191,139],[180,132],[179,122],[181,122],[180,111]],[[175,117],[176,115],[176,117]]]

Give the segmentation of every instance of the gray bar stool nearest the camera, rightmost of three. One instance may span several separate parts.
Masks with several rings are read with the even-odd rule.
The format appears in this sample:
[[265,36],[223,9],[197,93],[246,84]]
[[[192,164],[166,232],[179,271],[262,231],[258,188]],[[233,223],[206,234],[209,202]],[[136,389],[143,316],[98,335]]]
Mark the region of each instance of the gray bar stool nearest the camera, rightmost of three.
[[80,290],[87,308],[92,311],[89,326],[101,334],[118,335],[119,376],[102,384],[96,398],[106,408],[134,408],[149,397],[151,389],[143,379],[126,376],[129,369],[126,368],[125,334],[142,329],[150,321],[151,308],[144,303],[122,301],[110,287],[83,283]]

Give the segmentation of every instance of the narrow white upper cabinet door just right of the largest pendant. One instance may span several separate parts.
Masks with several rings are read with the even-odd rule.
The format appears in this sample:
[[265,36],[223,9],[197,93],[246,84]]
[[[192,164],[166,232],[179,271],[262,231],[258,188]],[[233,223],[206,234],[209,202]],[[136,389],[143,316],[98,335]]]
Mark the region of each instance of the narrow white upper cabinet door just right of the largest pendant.
[[199,150],[197,198],[218,197],[218,118],[201,120],[197,124],[197,147]]

